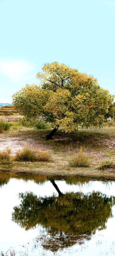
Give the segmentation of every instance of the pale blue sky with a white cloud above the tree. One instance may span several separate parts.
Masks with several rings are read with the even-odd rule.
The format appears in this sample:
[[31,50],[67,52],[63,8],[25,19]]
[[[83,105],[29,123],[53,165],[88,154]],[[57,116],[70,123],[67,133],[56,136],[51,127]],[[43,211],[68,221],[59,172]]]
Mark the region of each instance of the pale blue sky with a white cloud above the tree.
[[0,102],[53,61],[115,94],[115,1],[0,0]]

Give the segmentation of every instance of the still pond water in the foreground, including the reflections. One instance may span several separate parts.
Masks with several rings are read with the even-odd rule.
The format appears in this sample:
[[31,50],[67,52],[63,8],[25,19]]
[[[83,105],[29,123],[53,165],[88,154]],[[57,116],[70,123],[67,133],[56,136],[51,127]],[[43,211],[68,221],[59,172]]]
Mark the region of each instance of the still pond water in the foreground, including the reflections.
[[115,181],[0,173],[0,256],[115,255]]

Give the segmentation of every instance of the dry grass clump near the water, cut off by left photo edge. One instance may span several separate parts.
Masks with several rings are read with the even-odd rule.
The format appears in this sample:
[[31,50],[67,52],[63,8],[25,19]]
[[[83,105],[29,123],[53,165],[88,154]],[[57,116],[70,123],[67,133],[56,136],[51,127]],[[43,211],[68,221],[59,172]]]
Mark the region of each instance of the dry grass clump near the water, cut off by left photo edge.
[[6,148],[0,150],[0,164],[10,164],[11,163],[11,149]]

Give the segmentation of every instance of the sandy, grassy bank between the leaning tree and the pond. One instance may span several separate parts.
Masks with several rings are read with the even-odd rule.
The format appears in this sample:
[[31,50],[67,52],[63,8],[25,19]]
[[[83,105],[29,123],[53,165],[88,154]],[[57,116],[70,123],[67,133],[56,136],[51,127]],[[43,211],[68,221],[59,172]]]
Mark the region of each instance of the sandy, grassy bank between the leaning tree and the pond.
[[[24,172],[38,175],[86,176],[115,180],[115,168],[99,170],[101,161],[115,162],[115,126],[105,126],[101,131],[82,131],[64,133],[59,129],[53,140],[44,140],[42,136],[50,129],[19,127],[0,134],[0,150],[10,147],[12,154],[25,145],[48,150],[53,159],[50,162],[12,162],[0,164],[2,172]],[[80,147],[85,147],[92,159],[90,167],[70,167],[68,161]]]

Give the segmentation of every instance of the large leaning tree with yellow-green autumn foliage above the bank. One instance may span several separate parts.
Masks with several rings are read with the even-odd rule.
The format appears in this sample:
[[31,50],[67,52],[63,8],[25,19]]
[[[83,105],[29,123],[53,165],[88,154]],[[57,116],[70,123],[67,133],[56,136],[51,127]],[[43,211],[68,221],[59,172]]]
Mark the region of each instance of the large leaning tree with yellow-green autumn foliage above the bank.
[[40,85],[26,85],[13,95],[13,103],[27,119],[42,116],[53,123],[47,139],[59,126],[72,132],[78,125],[102,124],[113,95],[101,88],[96,78],[57,62],[45,64],[42,71],[37,74]]

